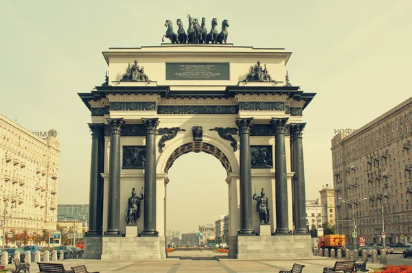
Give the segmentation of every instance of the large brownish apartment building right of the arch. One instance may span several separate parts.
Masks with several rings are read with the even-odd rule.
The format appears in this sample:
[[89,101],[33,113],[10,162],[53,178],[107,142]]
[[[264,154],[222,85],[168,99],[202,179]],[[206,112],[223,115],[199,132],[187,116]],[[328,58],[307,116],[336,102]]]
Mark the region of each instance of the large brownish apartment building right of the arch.
[[[409,241],[412,98],[352,134],[332,139],[336,231],[374,243]],[[400,239],[404,235],[404,239]],[[403,237],[403,236],[402,236]]]

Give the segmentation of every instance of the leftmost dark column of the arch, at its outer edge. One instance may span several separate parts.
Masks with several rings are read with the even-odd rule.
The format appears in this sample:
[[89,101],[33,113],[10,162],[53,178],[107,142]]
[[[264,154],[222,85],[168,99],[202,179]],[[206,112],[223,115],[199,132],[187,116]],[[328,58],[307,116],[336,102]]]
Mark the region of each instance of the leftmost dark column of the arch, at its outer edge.
[[91,130],[91,163],[90,163],[90,192],[89,192],[89,231],[87,236],[101,236],[102,228],[99,219],[100,202],[102,195],[100,194],[100,175],[99,163],[102,160],[99,151],[100,143],[104,134],[103,123],[88,123]]

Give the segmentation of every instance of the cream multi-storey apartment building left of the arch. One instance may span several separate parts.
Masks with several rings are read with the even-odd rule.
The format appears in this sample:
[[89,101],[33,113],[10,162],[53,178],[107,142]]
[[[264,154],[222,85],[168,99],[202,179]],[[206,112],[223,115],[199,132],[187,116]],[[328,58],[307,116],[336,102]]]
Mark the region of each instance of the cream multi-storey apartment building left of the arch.
[[[43,138],[42,138],[43,137]],[[56,130],[34,134],[0,115],[4,231],[56,230],[60,143]]]

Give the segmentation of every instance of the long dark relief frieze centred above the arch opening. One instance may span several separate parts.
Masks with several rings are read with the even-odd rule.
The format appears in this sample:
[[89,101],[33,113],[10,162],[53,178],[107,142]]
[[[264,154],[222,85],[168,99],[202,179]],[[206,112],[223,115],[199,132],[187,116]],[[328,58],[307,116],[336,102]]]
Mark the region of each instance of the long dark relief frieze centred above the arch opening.
[[225,115],[225,114],[237,114],[237,106],[201,106],[201,105],[188,105],[188,106],[157,106],[158,114],[203,114],[203,115]]

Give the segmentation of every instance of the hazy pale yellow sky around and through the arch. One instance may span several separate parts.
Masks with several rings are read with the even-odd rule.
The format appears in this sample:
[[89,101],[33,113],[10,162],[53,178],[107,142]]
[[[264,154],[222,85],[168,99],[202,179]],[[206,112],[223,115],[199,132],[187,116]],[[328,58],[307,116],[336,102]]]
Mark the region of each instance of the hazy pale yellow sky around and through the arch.
[[[411,96],[412,1],[165,2],[0,1],[0,113],[28,130],[57,130],[58,204],[89,201],[84,185],[89,184],[91,118],[77,93],[104,82],[102,51],[160,45],[165,19],[186,14],[227,19],[228,43],[293,52],[286,67],[290,82],[317,93],[304,110],[307,199],[319,198],[322,185],[332,184],[335,129],[361,128]],[[198,180],[196,171],[203,167],[193,162],[200,160],[216,168]],[[196,230],[227,213],[226,175],[216,158],[186,154],[169,176],[168,206],[174,213],[168,211],[168,229]],[[190,223],[181,216],[187,202],[170,198],[185,183],[192,183],[188,195],[196,196],[187,202],[208,213]]]

